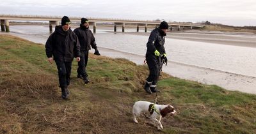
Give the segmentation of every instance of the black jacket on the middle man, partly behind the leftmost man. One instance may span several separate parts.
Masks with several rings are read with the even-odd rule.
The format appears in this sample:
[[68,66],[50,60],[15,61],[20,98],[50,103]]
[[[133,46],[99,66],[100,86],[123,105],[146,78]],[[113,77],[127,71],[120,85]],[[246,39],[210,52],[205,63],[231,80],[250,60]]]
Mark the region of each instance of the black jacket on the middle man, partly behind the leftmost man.
[[81,45],[81,50],[90,50],[91,45],[92,48],[97,49],[97,45],[95,43],[95,38],[93,36],[93,33],[90,29],[86,28],[82,24],[80,24],[80,27],[76,28],[74,30],[74,33],[76,33],[80,45]]

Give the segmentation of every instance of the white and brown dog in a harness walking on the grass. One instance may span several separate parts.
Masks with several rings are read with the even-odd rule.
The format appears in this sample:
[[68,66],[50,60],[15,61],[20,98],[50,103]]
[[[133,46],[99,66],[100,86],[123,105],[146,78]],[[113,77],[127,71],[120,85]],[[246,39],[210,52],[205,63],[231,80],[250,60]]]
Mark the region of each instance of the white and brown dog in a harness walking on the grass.
[[[161,124],[162,117],[166,115],[174,115],[177,112],[174,110],[172,105],[158,105],[148,101],[136,101],[132,107],[133,121],[138,123],[137,117],[140,116],[141,112],[150,114],[150,119],[153,121],[158,130],[163,130]],[[157,120],[159,117],[159,120]]]

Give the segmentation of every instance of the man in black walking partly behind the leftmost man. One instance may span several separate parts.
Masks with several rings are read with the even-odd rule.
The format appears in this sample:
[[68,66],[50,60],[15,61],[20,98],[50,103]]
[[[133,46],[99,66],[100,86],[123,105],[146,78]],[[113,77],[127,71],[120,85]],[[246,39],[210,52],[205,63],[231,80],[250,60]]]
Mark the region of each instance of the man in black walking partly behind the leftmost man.
[[91,46],[95,49],[94,54],[100,56],[93,33],[89,29],[89,20],[82,18],[80,27],[76,28],[74,30],[74,33],[76,33],[81,45],[81,61],[78,62],[77,78],[82,78],[84,80],[84,83],[88,84],[89,79],[88,74],[86,73],[86,66]]

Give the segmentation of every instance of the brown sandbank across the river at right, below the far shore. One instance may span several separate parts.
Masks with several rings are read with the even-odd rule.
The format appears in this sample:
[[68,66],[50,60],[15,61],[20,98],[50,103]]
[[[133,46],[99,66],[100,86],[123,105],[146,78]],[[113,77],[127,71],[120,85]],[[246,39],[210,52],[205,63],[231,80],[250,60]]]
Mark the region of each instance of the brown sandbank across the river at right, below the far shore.
[[[149,36],[150,33],[129,33]],[[256,47],[256,34],[253,33],[224,33],[218,31],[169,31],[166,38],[178,40],[200,41],[207,43],[218,43],[223,45],[234,45],[241,47]]]

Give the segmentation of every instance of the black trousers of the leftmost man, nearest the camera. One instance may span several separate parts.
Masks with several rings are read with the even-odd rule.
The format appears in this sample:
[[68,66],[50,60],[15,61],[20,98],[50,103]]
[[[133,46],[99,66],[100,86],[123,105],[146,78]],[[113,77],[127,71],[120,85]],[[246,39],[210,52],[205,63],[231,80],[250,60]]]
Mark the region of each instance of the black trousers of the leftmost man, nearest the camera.
[[55,61],[58,68],[60,87],[65,88],[70,84],[71,62]]

